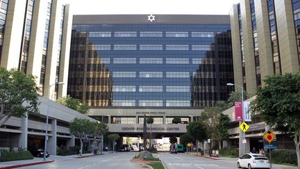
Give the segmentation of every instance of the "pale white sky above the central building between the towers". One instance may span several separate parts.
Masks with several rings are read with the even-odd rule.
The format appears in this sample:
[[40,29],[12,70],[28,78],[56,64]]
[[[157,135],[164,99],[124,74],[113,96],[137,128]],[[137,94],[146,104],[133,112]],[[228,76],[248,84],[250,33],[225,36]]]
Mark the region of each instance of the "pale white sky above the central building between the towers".
[[74,15],[190,14],[228,15],[240,0],[63,0]]

